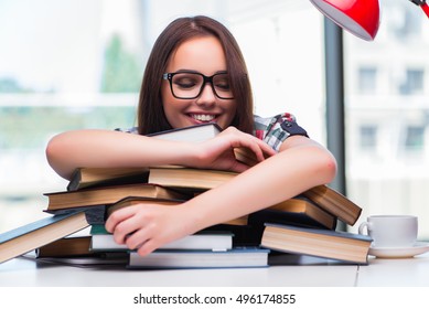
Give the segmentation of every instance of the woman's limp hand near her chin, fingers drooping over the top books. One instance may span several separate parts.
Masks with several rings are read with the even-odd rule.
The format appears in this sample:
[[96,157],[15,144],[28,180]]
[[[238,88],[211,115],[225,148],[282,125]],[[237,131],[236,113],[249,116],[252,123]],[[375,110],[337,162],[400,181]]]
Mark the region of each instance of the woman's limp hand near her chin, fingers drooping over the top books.
[[196,145],[197,158],[187,166],[200,169],[218,169],[243,172],[247,166],[236,159],[234,149],[247,148],[255,154],[256,161],[264,161],[266,157],[276,153],[265,141],[253,135],[228,127],[215,138]]

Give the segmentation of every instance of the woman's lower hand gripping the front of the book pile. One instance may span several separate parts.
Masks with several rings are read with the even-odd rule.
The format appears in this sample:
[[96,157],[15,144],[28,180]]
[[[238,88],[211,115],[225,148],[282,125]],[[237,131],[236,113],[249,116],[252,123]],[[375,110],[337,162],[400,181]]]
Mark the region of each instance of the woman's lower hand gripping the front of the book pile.
[[180,205],[136,204],[115,211],[106,221],[106,230],[114,234],[116,243],[126,244],[143,256],[194,233],[190,220]]

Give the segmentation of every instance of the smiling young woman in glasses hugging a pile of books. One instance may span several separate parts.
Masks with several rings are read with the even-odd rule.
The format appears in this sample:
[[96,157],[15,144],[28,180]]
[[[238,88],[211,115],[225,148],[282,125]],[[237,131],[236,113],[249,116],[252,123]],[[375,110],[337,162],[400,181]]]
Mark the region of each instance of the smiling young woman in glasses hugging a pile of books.
[[[175,207],[136,205],[115,212],[106,228],[140,255],[329,183],[336,172],[333,156],[291,115],[253,115],[240,50],[223,24],[206,17],[178,19],[160,34],[144,72],[138,119],[129,131],[61,134],[47,145],[49,162],[66,179],[79,167],[178,164],[240,172]],[[144,136],[207,121],[224,130],[201,143]],[[236,147],[249,148],[259,163],[237,161]]]

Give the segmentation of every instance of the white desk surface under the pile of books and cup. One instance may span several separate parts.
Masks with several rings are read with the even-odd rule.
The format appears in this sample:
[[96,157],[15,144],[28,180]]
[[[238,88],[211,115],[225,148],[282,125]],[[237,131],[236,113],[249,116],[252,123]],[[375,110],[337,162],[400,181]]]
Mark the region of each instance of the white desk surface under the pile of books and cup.
[[131,270],[88,268],[20,257],[0,265],[1,287],[429,287],[429,253],[414,258],[369,258],[367,266]]

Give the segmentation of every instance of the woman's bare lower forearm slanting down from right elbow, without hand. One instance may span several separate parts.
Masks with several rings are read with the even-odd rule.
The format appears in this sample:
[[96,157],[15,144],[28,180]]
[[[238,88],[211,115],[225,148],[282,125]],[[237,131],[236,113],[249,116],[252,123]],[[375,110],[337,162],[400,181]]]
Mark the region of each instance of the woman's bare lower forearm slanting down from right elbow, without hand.
[[183,204],[193,217],[190,233],[268,207],[333,180],[336,163],[317,146],[283,151],[229,182]]

